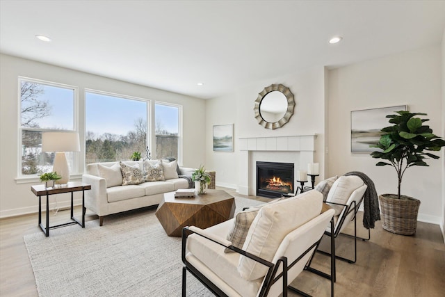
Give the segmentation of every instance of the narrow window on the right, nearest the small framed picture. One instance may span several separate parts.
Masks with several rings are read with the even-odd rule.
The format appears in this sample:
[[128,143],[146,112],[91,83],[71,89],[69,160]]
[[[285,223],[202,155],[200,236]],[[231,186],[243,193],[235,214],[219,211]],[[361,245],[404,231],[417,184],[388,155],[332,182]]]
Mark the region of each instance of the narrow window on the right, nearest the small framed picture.
[[156,122],[156,159],[173,156],[179,159],[179,116],[181,106],[156,103],[154,108]]

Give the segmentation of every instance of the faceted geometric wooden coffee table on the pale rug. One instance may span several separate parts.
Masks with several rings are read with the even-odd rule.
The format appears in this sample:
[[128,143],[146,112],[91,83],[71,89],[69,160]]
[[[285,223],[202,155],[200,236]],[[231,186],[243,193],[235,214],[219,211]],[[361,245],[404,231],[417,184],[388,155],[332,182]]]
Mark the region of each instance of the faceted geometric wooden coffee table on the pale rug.
[[205,229],[233,218],[234,212],[235,198],[223,190],[207,190],[195,198],[175,198],[170,192],[164,194],[156,217],[168,236],[181,237],[183,227]]

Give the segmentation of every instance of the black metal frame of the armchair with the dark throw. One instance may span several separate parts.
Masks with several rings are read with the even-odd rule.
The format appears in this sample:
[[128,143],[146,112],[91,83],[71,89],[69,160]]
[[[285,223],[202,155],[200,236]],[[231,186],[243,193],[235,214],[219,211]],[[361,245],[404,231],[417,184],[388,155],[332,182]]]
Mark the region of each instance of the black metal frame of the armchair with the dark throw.
[[[349,205],[348,204],[341,204],[341,203],[336,203],[336,202],[325,202],[326,204],[335,204],[335,205],[340,205],[342,207],[344,207],[346,209],[346,211],[343,211],[343,215],[340,218],[340,222],[337,224],[339,227],[337,227],[337,230],[335,232],[333,232],[334,228],[331,227],[331,232],[327,232],[325,231],[325,235],[327,236],[331,236],[332,238],[332,232],[334,234],[334,239],[337,238],[337,236],[339,234],[343,235],[343,236],[348,236],[354,239],[354,258],[353,259],[348,259],[346,257],[340,257],[339,255],[335,255],[335,250],[333,251],[335,257],[339,260],[348,262],[350,264],[353,264],[355,262],[357,262],[357,238],[358,239],[362,239],[362,241],[369,241],[369,239],[371,239],[371,230],[368,229],[368,238],[363,238],[363,237],[359,237],[357,236],[357,211],[359,211],[359,206],[360,204],[362,204],[363,201],[363,197],[362,199],[359,200],[359,202],[351,202]],[[341,229],[341,225],[343,225],[344,220],[346,220],[346,216],[348,216],[350,214],[351,211],[354,211],[354,215],[353,218],[351,220],[354,221],[354,235],[350,235],[350,234],[345,234],[345,233],[341,233],[340,229]],[[332,248],[331,248],[332,250]],[[317,250],[318,252],[320,252],[321,254],[324,255],[331,255],[330,252],[325,252],[323,250]]]

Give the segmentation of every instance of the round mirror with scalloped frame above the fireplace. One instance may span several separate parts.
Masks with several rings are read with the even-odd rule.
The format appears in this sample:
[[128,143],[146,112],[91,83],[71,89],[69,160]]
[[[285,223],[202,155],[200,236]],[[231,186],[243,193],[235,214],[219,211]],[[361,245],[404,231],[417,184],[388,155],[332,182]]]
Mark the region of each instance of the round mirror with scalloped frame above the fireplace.
[[266,129],[283,127],[293,115],[293,94],[282,84],[270,85],[259,93],[254,112],[258,124]]

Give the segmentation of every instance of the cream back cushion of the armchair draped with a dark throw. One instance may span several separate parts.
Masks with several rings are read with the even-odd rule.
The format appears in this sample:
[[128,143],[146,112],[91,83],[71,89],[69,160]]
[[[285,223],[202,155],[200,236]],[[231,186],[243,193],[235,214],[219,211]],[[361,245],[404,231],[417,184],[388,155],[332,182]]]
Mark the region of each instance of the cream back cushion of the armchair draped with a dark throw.
[[[339,177],[327,194],[326,202],[334,202],[339,204],[345,204],[348,202],[349,196],[360,186],[363,186],[364,182],[357,175],[348,175]],[[341,205],[329,204],[335,210],[334,216],[338,216],[343,211],[344,207]]]

